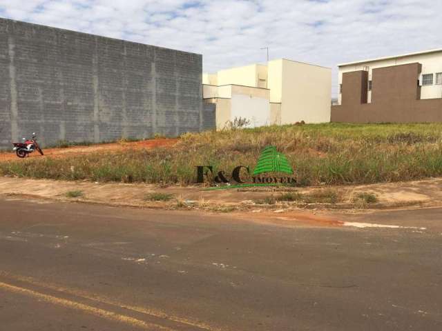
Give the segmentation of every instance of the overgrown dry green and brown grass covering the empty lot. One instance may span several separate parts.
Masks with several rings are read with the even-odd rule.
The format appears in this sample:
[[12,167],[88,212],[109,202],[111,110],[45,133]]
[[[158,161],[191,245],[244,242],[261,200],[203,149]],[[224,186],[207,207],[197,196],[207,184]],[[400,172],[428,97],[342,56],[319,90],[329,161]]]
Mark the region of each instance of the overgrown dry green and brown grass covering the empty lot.
[[271,126],[184,134],[173,146],[125,148],[3,161],[1,175],[188,185],[196,165],[252,169],[263,148],[278,147],[299,185],[408,181],[442,176],[442,123]]

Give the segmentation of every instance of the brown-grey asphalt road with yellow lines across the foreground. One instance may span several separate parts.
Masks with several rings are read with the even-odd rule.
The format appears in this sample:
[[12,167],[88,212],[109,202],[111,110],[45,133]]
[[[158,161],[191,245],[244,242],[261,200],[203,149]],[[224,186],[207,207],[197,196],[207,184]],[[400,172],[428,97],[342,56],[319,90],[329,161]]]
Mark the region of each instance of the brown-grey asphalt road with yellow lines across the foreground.
[[3,198],[0,330],[442,330],[442,210],[343,218],[425,230]]

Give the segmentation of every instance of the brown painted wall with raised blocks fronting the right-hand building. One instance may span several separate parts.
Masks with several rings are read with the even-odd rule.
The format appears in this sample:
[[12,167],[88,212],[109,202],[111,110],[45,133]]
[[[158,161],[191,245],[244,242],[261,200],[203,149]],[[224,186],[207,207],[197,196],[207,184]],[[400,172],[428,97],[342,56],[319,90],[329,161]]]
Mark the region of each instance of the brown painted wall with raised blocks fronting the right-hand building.
[[441,122],[442,99],[421,99],[421,63],[373,70],[372,103],[367,103],[368,72],[343,74],[340,106],[332,106],[332,122]]

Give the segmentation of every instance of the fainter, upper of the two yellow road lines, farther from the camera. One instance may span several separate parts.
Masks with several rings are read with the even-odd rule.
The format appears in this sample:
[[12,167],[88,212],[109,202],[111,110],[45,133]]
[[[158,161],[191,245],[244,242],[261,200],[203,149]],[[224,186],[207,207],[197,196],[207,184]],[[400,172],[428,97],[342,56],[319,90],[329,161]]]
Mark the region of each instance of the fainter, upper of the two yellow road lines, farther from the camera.
[[177,316],[173,316],[170,314],[166,314],[166,312],[162,312],[161,310],[156,310],[156,309],[152,309],[152,308],[144,308],[144,307],[138,307],[138,306],[133,306],[133,305],[127,305],[125,303],[120,303],[117,301],[114,301],[112,299],[108,299],[105,297],[100,297],[97,294],[90,294],[89,292],[86,292],[84,290],[74,290],[71,288],[64,288],[61,287],[59,285],[52,285],[50,283],[44,283],[41,281],[37,281],[35,279],[33,279],[32,277],[24,277],[24,276],[20,276],[17,274],[11,274],[10,272],[3,272],[0,270],[0,275],[2,275],[3,277],[8,277],[10,279],[15,279],[17,281],[23,281],[25,283],[30,283],[32,285],[36,285],[39,286],[41,288],[48,288],[50,290],[55,290],[58,292],[64,292],[67,294],[71,294],[71,295],[75,295],[76,297],[83,297],[84,299],[88,299],[91,301],[97,301],[99,303],[105,303],[108,305],[115,305],[117,307],[124,307],[125,309],[128,310],[133,310],[134,312],[140,312],[142,314],[147,314],[147,315],[151,315],[153,317],[157,317],[160,319],[168,319],[169,321],[173,321],[176,323],[181,323],[184,325],[189,325],[191,327],[195,327],[195,328],[199,328],[201,330],[206,330],[206,331],[222,331],[219,328],[214,328],[213,326],[209,326],[206,325],[204,323],[201,322],[196,322],[196,321],[191,321],[189,319],[185,319],[183,317],[177,317]]

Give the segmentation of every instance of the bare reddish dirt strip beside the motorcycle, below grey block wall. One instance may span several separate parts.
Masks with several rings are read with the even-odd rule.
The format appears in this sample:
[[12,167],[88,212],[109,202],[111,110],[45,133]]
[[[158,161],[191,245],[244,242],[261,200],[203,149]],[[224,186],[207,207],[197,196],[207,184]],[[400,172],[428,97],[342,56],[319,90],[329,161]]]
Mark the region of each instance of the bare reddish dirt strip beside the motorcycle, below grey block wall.
[[[152,139],[143,141],[134,141],[128,143],[103,143],[99,145],[91,146],[73,146],[68,148],[48,148],[44,149],[44,156],[41,156],[39,152],[33,152],[30,154],[30,158],[42,158],[42,157],[71,157],[75,155],[90,154],[95,152],[112,152],[131,149],[152,149],[164,146],[173,146],[177,143],[178,139]],[[0,153],[0,161],[19,160],[14,152]]]

